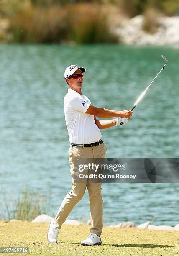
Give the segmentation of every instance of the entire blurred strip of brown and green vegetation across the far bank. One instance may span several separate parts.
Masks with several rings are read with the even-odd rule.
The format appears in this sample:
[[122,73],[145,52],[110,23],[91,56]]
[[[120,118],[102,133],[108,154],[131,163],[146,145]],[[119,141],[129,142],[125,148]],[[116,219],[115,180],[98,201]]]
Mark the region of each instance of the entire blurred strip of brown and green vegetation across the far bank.
[[179,0],[0,0],[8,43],[117,43],[113,27],[124,17],[145,15],[144,30],[155,33],[160,13],[176,15]]

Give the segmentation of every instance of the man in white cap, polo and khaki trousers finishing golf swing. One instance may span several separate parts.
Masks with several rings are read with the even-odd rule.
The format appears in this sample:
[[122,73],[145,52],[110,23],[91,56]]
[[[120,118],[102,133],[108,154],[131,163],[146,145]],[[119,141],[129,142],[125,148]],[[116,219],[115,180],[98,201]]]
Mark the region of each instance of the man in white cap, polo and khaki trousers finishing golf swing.
[[[92,227],[90,236],[81,242],[82,245],[100,245],[102,233],[102,195],[101,183],[76,183],[74,180],[74,159],[77,158],[105,158],[107,148],[102,141],[101,129],[115,125],[123,125],[130,120],[133,111],[115,111],[97,108],[91,104],[87,96],[82,94],[84,67],[71,65],[66,68],[64,77],[69,86],[64,97],[64,113],[69,133],[69,163],[72,177],[72,189],[64,197],[57,215],[51,220],[47,238],[50,243],[56,243],[61,225],[64,223],[73,207],[82,199],[86,187],[90,200],[90,215]],[[100,118],[114,118],[112,120],[97,120]]]

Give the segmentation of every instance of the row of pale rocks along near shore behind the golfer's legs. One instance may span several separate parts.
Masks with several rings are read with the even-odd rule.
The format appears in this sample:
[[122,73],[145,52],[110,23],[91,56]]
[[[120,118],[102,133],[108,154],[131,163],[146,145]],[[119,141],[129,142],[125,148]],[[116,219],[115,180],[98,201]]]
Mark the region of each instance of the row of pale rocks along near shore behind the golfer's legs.
[[[41,214],[37,216],[34,220],[32,220],[32,223],[41,223],[41,222],[47,222],[50,223],[51,219],[53,217],[48,216],[46,214]],[[28,222],[27,220],[10,220],[10,222]],[[69,220],[67,219],[64,224],[66,225],[74,225],[74,226],[79,226],[79,225],[84,225],[84,223],[78,221],[78,220]],[[91,225],[91,221],[88,220],[86,225]],[[119,223],[117,225],[109,225],[109,228],[140,228],[140,229],[151,229],[151,230],[165,230],[165,231],[179,231],[179,224],[175,225],[174,227],[168,226],[168,225],[152,225],[152,221],[147,221],[145,223],[142,223],[140,225],[135,225],[135,223],[126,221]]]

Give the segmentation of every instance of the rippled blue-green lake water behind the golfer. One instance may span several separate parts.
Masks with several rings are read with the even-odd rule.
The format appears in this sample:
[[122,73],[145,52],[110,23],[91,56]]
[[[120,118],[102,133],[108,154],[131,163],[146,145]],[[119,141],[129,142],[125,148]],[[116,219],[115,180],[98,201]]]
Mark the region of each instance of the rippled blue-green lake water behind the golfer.
[[[64,69],[86,67],[83,94],[93,105],[132,108],[159,72],[125,127],[102,131],[108,158],[179,157],[179,49],[118,45],[0,46],[0,185],[9,204],[24,187],[53,192],[56,215],[71,187],[63,97]],[[179,223],[178,184],[103,184],[104,224]],[[3,196],[0,197],[1,210]],[[69,218],[90,218],[87,191]],[[1,212],[1,218],[2,212]]]

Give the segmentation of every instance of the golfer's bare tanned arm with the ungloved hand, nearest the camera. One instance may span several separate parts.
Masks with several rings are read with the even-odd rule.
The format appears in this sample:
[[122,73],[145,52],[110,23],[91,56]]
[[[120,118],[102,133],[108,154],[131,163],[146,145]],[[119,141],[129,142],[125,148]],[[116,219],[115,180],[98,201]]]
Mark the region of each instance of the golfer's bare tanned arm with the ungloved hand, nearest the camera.
[[[100,118],[112,118],[112,117],[122,117],[122,118],[128,118],[130,120],[130,117],[133,113],[131,110],[109,110],[107,108],[97,108],[93,105],[90,105],[90,107],[85,112],[89,115],[94,115]],[[110,121],[110,120],[109,120]]]

